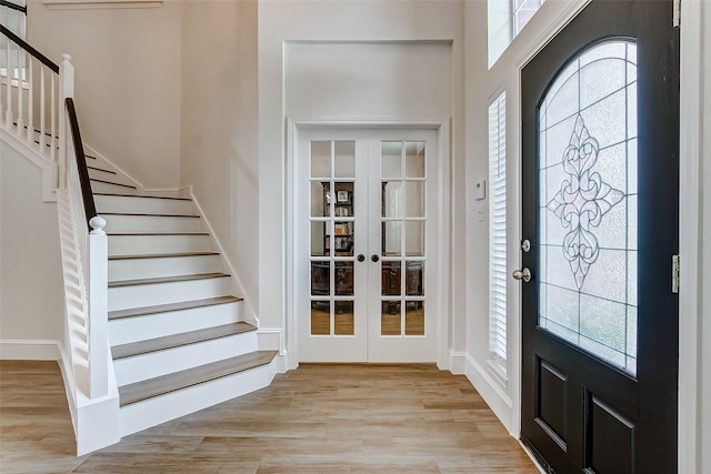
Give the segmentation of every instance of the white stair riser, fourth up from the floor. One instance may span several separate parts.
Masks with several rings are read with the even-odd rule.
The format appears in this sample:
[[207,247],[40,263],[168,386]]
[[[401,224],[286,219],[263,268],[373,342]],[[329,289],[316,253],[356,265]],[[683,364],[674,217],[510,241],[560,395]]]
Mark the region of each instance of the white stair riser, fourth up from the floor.
[[217,297],[230,290],[229,278],[110,288],[109,311]]

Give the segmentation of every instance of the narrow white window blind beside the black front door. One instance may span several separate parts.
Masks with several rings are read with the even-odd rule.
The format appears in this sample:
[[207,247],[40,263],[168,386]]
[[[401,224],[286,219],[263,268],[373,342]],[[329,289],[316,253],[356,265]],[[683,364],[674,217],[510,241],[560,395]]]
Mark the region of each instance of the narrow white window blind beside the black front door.
[[489,351],[507,367],[507,132],[505,92],[489,107]]

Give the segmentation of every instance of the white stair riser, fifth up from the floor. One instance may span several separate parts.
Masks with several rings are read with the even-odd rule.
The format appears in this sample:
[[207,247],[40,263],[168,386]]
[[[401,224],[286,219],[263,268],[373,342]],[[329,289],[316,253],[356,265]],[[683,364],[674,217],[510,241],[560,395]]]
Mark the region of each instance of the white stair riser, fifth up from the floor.
[[191,275],[222,271],[220,255],[126,259],[109,261],[109,281]]

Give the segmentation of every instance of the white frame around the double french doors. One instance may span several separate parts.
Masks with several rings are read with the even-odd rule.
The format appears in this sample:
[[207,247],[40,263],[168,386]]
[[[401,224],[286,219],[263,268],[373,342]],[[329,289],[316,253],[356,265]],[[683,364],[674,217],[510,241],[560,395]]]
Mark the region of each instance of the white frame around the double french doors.
[[[433,130],[438,140],[438,177],[437,177],[437,239],[440,243],[437,249],[437,272],[439,282],[432,293],[435,295],[435,305],[431,307],[433,314],[438,314],[437,332],[437,366],[441,370],[449,369],[449,332],[451,326],[450,315],[450,280],[451,280],[451,235],[449,232],[451,222],[451,189],[450,189],[450,129],[449,119],[433,120],[338,120],[338,119],[287,119],[287,162],[286,167],[286,202],[284,202],[284,262],[286,262],[286,312],[283,327],[283,344],[280,344],[286,355],[287,369],[296,369],[299,365],[299,315],[298,307],[298,259],[296,251],[296,238],[298,232],[304,229],[297,228],[298,190],[299,183],[297,168],[300,160],[304,159],[299,153],[300,132],[302,130],[332,129],[332,130]],[[286,344],[286,345],[284,345]]]

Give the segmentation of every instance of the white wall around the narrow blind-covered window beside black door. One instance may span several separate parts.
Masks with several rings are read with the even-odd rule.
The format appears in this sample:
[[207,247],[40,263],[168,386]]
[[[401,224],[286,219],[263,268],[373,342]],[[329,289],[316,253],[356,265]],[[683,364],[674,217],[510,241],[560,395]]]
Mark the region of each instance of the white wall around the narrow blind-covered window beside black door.
[[[488,68],[487,18],[484,1],[465,2],[467,68],[467,376],[484,396],[509,431],[520,430],[520,284],[509,279],[508,285],[508,384],[500,383],[488,367],[489,359],[489,245],[488,220],[477,219],[471,196],[474,183],[488,178],[488,108],[501,91],[507,93],[507,208],[509,248],[507,269],[519,268],[520,223],[520,83],[519,68],[535,49],[559,29],[563,20],[580,6],[580,0],[548,0],[499,60]],[[460,188],[461,190],[461,188]],[[460,191],[461,192],[461,191]],[[487,212],[484,208],[484,213]]]

